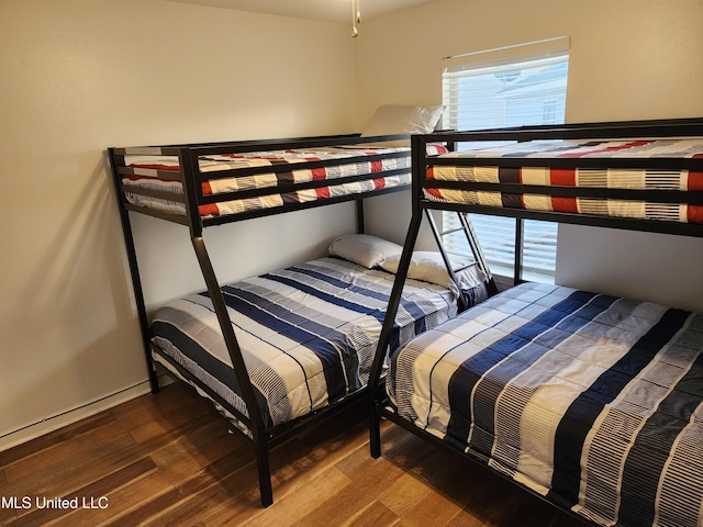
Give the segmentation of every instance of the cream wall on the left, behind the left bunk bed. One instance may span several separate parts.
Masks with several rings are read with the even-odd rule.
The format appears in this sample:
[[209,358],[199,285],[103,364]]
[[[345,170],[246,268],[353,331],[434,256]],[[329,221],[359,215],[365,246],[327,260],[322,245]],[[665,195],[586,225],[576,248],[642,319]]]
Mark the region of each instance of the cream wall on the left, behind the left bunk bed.
[[[0,71],[1,450],[146,389],[108,146],[358,126],[339,24],[164,0],[2,0]],[[150,305],[203,288],[185,227],[135,223]],[[205,239],[234,279],[354,228],[354,208],[336,205]]]

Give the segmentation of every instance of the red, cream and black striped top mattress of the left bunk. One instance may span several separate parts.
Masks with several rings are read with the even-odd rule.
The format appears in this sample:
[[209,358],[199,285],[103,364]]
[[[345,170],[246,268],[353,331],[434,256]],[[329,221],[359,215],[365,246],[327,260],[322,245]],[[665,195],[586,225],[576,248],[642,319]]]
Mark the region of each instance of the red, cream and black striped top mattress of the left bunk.
[[[433,145],[429,153],[446,152],[446,148]],[[378,158],[380,155],[392,157]],[[364,157],[377,156],[373,160]],[[356,160],[355,160],[356,159]],[[360,159],[360,160],[359,160]],[[325,166],[308,168],[305,164],[325,161]],[[125,164],[133,173],[124,176],[122,182],[135,190],[148,189],[170,192],[182,197],[182,183],[177,177],[164,178],[164,171],[180,170],[176,156],[125,156]],[[281,171],[281,166],[289,169]],[[267,167],[276,171],[266,171]],[[199,169],[204,175],[201,183],[205,197],[223,194],[222,200],[199,205],[202,217],[215,217],[238,214],[247,211],[282,206],[287,203],[306,203],[341,195],[358,194],[379,189],[390,189],[410,184],[410,148],[392,147],[361,148],[345,146],[316,149],[286,149],[253,152],[243,154],[209,155],[199,157]],[[256,173],[250,173],[252,170]],[[232,170],[249,170],[236,175]],[[226,175],[217,172],[230,171]],[[390,172],[390,173],[384,173]],[[341,178],[378,175],[376,178],[335,182]],[[294,189],[290,186],[330,181],[328,186]],[[278,187],[288,186],[288,190],[277,192]],[[270,189],[261,195],[236,197],[237,192]],[[225,195],[227,194],[227,195]],[[186,206],[177,199],[164,199],[125,192],[130,203],[147,206],[171,214],[186,214]]]

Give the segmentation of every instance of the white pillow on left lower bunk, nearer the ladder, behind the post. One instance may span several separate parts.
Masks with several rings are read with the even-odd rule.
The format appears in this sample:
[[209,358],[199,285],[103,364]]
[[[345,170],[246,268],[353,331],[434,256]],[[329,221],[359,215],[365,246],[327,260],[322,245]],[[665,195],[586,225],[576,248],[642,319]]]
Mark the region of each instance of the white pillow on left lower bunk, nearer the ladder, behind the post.
[[[449,256],[449,261],[454,269],[458,269],[473,260],[469,258]],[[388,272],[395,273],[398,272],[399,265],[400,256],[398,256],[398,258],[388,258],[383,264],[381,264],[381,267]],[[473,271],[475,269],[476,271]],[[442,254],[437,251],[417,250],[413,253],[410,260],[410,267],[408,268],[408,278],[436,283],[437,285],[442,285],[450,290],[455,295],[459,294],[456,284],[447,272],[447,267],[444,265]],[[473,267],[469,273],[457,273],[457,280],[459,282],[459,287],[464,290],[470,289],[481,281],[484,281],[486,277],[480,270],[478,270],[478,268]]]

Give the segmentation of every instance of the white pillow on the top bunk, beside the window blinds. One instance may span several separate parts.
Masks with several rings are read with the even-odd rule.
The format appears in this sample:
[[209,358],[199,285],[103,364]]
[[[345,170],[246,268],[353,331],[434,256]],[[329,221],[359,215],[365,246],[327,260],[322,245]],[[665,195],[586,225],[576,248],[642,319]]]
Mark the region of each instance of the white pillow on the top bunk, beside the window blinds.
[[361,137],[390,134],[428,134],[435,130],[444,106],[384,104],[376,110]]

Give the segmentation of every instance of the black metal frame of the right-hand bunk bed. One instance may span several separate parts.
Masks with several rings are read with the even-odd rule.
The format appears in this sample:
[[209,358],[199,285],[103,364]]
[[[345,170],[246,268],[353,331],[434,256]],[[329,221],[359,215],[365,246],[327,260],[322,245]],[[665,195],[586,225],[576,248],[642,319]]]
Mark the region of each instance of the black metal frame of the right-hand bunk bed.
[[[469,460],[486,469],[478,460],[462,455],[449,447],[438,437],[414,426],[412,423],[400,417],[390,407],[386,392],[381,386],[381,372],[386,360],[384,350],[388,349],[392,321],[399,306],[400,296],[410,266],[412,251],[417,240],[417,235],[422,224],[423,215],[431,216],[432,211],[455,211],[459,214],[479,213],[500,216],[515,217],[517,228],[515,232],[515,283],[522,281],[520,267],[520,249],[522,245],[522,221],[542,220],[558,223],[577,225],[591,225],[628,231],[641,231],[651,233],[673,234],[681,236],[703,237],[703,224],[674,223],[660,220],[636,220],[627,217],[599,216],[589,214],[574,214],[563,212],[542,212],[524,209],[509,209],[487,205],[470,205],[461,203],[442,203],[431,201],[424,197],[423,188],[457,189],[471,191],[496,191],[505,193],[540,193],[550,197],[568,198],[611,198],[633,201],[656,201],[661,203],[687,203],[703,205],[703,191],[681,191],[681,190],[624,190],[624,189],[602,189],[602,188],[577,188],[577,187],[544,187],[507,182],[464,182],[464,181],[437,181],[427,178],[427,167],[432,165],[454,165],[454,166],[490,166],[490,167],[556,167],[556,168],[622,168],[622,169],[687,169],[695,172],[703,172],[703,158],[450,158],[433,159],[426,155],[425,145],[427,143],[446,143],[451,149],[462,142],[495,142],[513,141],[526,142],[534,139],[617,139],[617,138],[666,138],[666,137],[703,137],[703,117],[694,119],[671,119],[671,120],[648,120],[627,122],[601,122],[581,123],[565,125],[542,125],[521,126],[513,128],[494,128],[471,132],[440,132],[426,135],[414,135],[412,137],[412,217],[403,246],[403,253],[399,264],[398,272],[391,298],[389,300],[386,318],[381,329],[375,362],[369,378],[370,393],[376,396],[371,415],[369,418],[369,440],[371,457],[378,459],[381,456],[381,418],[388,419],[395,425],[423,438],[432,445],[456,455],[462,460]],[[475,240],[478,245],[478,242]],[[440,250],[442,245],[437,240]],[[480,251],[480,248],[479,248]],[[446,262],[447,260],[445,260]],[[448,269],[449,272],[451,271]],[[505,474],[494,471],[499,476],[513,482]],[[514,482],[513,482],[514,483]],[[545,501],[550,506],[556,506],[546,501],[544,496],[524,487],[525,491]],[[565,511],[570,516],[589,524],[582,516],[578,516],[571,511]],[[594,524],[595,525],[595,524]]]

